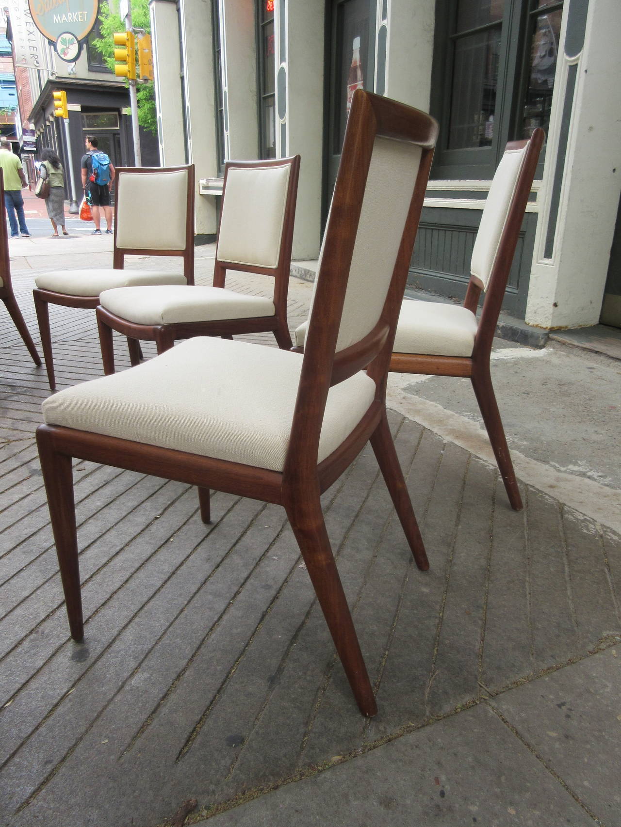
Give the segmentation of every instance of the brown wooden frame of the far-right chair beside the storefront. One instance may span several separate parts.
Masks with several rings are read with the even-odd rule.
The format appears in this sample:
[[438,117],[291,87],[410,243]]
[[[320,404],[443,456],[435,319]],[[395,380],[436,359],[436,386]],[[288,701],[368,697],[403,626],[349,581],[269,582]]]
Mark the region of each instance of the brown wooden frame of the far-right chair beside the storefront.
[[[463,306],[471,313],[476,313],[481,292],[485,290],[484,303],[479,323],[474,334],[474,348],[471,356],[433,356],[425,353],[395,352],[390,361],[390,370],[397,373],[427,374],[433,376],[468,377],[472,382],[474,394],[479,404],[481,416],[489,435],[498,470],[503,478],[511,507],[522,509],[522,497],[513,462],[509,453],[503,422],[500,418],[498,403],[493,392],[492,377],[489,370],[489,358],[492,351],[493,337],[496,332],[498,315],[503,304],[505,289],[513,256],[517,247],[522,219],[526,212],[532,180],[537,169],[537,160],[542,149],[545,134],[541,128],[533,131],[528,141],[511,141],[505,152],[525,148],[522,165],[513,187],[513,195],[508,203],[506,218],[498,238],[493,264],[491,266],[487,289],[481,279],[471,275],[465,294]],[[480,230],[479,230],[480,232]]]

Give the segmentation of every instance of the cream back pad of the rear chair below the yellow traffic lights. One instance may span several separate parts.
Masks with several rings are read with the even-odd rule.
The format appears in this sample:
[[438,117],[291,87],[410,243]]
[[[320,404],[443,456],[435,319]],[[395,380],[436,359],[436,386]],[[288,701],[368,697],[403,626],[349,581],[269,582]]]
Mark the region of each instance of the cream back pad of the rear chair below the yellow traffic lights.
[[120,173],[118,249],[184,250],[188,185],[188,170]]

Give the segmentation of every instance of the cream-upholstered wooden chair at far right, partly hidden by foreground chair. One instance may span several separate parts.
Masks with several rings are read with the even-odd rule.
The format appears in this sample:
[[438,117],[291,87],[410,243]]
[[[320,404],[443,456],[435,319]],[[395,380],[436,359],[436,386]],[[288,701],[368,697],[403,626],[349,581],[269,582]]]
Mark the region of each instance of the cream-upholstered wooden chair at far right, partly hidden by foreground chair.
[[[503,421],[493,392],[489,356],[509,271],[522,229],[545,135],[508,143],[493,176],[470,262],[463,305],[405,301],[390,370],[398,373],[469,377],[487,428],[511,507],[522,509]],[[475,313],[480,294],[480,318]]]

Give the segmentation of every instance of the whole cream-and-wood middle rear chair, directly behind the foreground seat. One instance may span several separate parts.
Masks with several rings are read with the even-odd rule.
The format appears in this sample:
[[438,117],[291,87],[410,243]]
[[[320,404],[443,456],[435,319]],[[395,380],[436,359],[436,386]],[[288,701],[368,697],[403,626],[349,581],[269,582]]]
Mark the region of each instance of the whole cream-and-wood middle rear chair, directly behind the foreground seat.
[[[176,339],[266,331],[273,332],[279,347],[291,347],[286,297],[299,172],[300,155],[227,162],[212,287],[103,291],[97,320],[105,374],[114,373],[113,330],[128,339],[156,342],[158,353]],[[272,298],[226,289],[227,270],[272,276]],[[131,353],[130,358],[137,365]]]

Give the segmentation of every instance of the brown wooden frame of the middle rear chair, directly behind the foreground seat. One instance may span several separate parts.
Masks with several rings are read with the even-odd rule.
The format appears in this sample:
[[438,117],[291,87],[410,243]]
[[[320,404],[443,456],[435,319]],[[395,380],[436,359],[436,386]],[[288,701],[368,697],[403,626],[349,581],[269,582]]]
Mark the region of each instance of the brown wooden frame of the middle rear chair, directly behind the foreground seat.
[[[219,336],[232,338],[233,333],[272,332],[278,347],[291,348],[291,334],[286,318],[286,299],[289,292],[289,276],[291,272],[291,245],[293,243],[293,227],[296,218],[297,184],[300,174],[300,155],[291,158],[259,161],[227,161],[224,167],[224,185],[222,209],[219,216],[219,230],[222,227],[224,213],[227,209],[226,189],[229,172],[231,170],[269,170],[270,168],[289,167],[289,178],[286,186],[285,209],[282,218],[282,234],[279,245],[277,264],[275,266],[253,265],[230,261],[219,255],[219,245],[216,247],[214,262],[213,286],[225,288],[227,270],[238,270],[245,273],[259,273],[271,275],[274,279],[273,304],[275,312],[272,316],[256,316],[250,318],[221,318],[201,320],[196,322],[177,322],[166,324],[139,324],[127,318],[122,318],[108,308],[99,304],[97,308],[97,322],[99,326],[99,342],[103,359],[103,372],[106,375],[114,373],[113,331],[122,333],[132,340],[155,342],[158,354],[167,351],[175,344],[176,339],[189,339],[193,336]],[[243,233],[243,227],[238,227]],[[219,236],[219,232],[218,232]],[[139,305],[139,294],[148,287],[136,290],[136,304]],[[194,289],[194,288],[192,288]],[[136,366],[140,359],[136,349],[130,351],[132,366]]]

